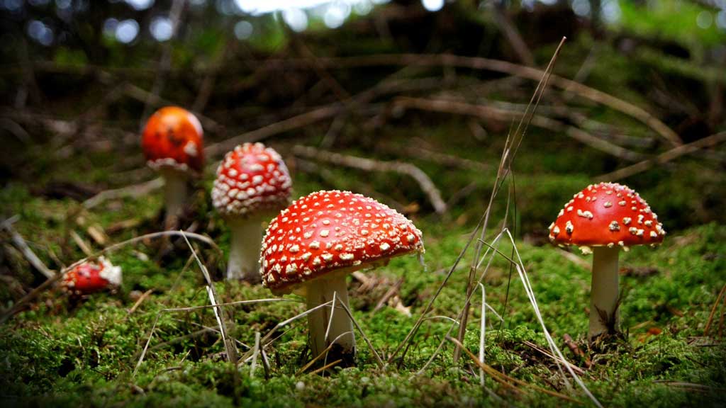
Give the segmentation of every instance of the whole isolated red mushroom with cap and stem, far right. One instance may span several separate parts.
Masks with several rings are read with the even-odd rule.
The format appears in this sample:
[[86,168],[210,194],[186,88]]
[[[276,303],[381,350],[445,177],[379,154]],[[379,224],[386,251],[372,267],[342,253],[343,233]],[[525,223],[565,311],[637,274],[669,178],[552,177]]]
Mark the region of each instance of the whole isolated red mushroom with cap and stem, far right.
[[627,186],[589,185],[573,196],[550,225],[550,241],[593,253],[590,342],[619,332],[618,255],[634,245],[657,246],[666,232],[650,206]]

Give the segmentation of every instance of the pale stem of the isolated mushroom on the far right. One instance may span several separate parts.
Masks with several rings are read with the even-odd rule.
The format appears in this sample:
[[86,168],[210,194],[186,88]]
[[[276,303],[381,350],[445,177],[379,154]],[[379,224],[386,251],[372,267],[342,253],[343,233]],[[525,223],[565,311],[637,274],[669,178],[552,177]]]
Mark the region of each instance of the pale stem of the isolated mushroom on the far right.
[[592,342],[602,334],[618,332],[618,255],[619,248],[595,247],[592,258],[590,292],[590,331]]

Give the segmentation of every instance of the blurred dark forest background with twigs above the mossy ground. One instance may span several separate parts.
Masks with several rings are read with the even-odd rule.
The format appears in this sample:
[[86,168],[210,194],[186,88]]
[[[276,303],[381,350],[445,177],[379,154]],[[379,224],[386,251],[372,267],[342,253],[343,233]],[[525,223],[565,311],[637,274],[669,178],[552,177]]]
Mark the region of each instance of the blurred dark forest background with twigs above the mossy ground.
[[354,189],[470,225],[566,36],[513,166],[518,232],[539,242],[599,179],[640,191],[670,229],[725,221],[724,0],[2,0],[0,13],[8,197],[83,201],[153,179],[139,129],[181,105],[205,128],[207,184],[225,151],[262,141],[299,194]]

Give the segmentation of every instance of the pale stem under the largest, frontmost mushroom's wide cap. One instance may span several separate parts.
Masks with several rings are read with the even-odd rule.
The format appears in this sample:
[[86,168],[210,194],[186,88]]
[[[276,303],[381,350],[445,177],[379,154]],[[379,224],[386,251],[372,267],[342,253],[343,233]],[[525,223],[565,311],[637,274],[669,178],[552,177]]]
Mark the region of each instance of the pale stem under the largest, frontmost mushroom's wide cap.
[[[332,301],[333,293],[335,293],[334,308],[322,307],[308,315],[310,349],[313,358],[325,351],[330,343],[335,342],[335,346],[328,351],[325,361],[334,362],[342,359],[341,366],[350,367],[354,365],[356,338],[353,331],[353,322],[348,317],[345,309],[340,306],[340,303],[342,303],[350,310],[346,274],[319,278],[309,282],[306,286],[308,309]],[[331,313],[333,313],[332,320],[330,319]],[[330,330],[328,329],[329,325]],[[326,332],[327,337],[325,336]]]

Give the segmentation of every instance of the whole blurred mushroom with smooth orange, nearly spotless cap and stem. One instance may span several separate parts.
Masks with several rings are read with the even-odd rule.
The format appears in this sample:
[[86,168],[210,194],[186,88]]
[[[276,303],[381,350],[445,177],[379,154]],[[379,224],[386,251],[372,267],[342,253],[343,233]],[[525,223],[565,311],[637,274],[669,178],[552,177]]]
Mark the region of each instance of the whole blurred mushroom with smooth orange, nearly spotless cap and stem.
[[202,124],[181,107],[162,107],[144,127],[141,143],[147,164],[164,179],[168,229],[176,227],[176,217],[184,208],[189,179],[202,172],[202,139]]

